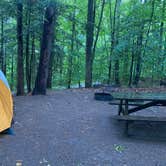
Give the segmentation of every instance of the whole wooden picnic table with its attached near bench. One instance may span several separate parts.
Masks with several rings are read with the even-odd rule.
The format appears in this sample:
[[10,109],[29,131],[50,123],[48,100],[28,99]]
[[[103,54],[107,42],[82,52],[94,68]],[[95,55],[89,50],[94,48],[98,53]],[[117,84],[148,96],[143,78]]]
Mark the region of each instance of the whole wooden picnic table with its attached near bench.
[[144,110],[152,106],[166,106],[165,93],[141,93],[141,92],[126,92],[126,93],[112,93],[114,98],[109,104],[118,105],[118,115],[115,119],[126,122],[125,134],[128,135],[128,126],[130,122],[134,121],[149,121],[149,122],[166,122],[165,117],[145,117],[130,115],[134,112]]

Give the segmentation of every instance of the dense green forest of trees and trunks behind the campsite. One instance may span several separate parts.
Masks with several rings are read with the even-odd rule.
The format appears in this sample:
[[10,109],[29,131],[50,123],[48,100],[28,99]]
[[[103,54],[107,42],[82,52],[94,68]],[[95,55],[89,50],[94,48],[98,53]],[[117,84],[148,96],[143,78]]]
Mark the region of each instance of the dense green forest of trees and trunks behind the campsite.
[[166,79],[165,0],[1,0],[0,68],[18,95]]

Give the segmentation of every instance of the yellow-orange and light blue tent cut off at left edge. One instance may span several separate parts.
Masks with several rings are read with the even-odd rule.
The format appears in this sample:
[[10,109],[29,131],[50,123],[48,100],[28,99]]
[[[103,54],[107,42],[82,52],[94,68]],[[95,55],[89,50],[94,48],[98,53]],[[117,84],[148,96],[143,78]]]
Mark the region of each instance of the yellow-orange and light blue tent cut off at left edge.
[[11,127],[13,118],[13,100],[9,84],[0,71],[0,132]]

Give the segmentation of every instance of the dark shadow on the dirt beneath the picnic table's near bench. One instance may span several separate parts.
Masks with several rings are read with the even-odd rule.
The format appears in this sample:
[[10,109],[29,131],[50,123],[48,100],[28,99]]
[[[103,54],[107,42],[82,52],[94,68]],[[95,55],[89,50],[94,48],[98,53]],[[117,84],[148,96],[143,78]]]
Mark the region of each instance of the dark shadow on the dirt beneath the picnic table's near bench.
[[129,123],[128,135],[126,123],[111,118],[111,123],[121,132],[124,139],[138,139],[154,142],[166,142],[166,123],[164,122],[131,122]]

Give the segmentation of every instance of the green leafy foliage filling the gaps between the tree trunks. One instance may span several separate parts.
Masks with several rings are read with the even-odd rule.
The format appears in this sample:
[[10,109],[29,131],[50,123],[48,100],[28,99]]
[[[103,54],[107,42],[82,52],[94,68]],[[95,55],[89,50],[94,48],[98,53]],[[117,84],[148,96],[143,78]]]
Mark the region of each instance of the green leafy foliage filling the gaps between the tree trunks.
[[[26,11],[27,1],[23,2],[23,35],[26,35]],[[32,33],[35,34],[35,53],[36,66],[40,55],[40,40],[42,35],[42,24],[44,11],[48,0],[31,0],[31,25],[30,43]],[[55,0],[54,0],[55,2]],[[57,2],[57,1],[56,1]],[[154,15],[150,21],[152,12],[152,1],[141,3],[138,0],[122,0],[120,6],[120,21],[118,25],[119,35],[118,44],[115,46],[112,55],[111,49],[111,24],[110,22],[110,3],[111,15],[114,14],[115,1],[106,0],[102,26],[97,42],[96,54],[93,64],[93,81],[106,82],[108,79],[108,66],[110,59],[112,66],[116,59],[120,61],[120,80],[127,85],[130,75],[130,64],[132,51],[134,50],[134,67],[137,63],[136,51],[138,49],[137,38],[140,32],[143,33],[141,47],[141,77],[152,77],[160,79],[166,77],[166,10],[163,0],[155,1]],[[59,17],[55,26],[55,46],[53,63],[53,87],[67,86],[68,57],[72,56],[72,85],[84,82],[85,77],[85,42],[86,42],[86,17],[87,1],[82,0],[62,0],[57,3]],[[73,11],[75,10],[75,18]],[[101,1],[96,0],[96,26],[99,21],[101,11]],[[17,36],[16,36],[16,1],[1,0],[0,14],[4,17],[4,38],[7,78],[10,84],[16,86],[16,55],[17,55]],[[71,52],[72,23],[75,21],[74,52]],[[161,23],[163,23],[163,33],[161,36]],[[144,28],[141,29],[141,25]],[[96,35],[95,28],[95,35]],[[30,46],[31,48],[31,46]],[[25,52],[25,51],[24,51]],[[30,50],[31,52],[31,50]],[[14,80],[11,79],[12,57],[14,65]],[[135,69],[133,69],[133,73]],[[112,68],[112,75],[114,69]],[[36,73],[36,72],[35,72]],[[35,76],[33,77],[35,79]],[[114,77],[112,77],[113,81]],[[14,81],[12,83],[12,81]],[[34,80],[33,80],[34,82]]]

